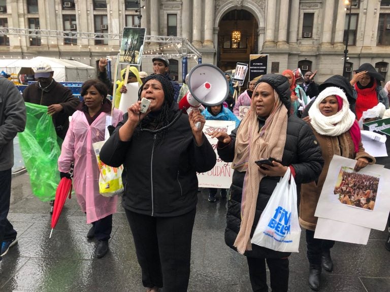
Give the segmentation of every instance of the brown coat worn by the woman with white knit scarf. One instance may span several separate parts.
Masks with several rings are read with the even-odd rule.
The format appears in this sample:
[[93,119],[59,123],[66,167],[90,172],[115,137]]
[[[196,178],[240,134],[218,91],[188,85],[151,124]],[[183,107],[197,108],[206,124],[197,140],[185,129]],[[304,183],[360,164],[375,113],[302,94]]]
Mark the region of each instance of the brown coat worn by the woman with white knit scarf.
[[317,184],[315,181],[312,181],[309,184],[302,185],[301,203],[299,206],[299,223],[301,227],[312,231],[315,230],[317,225],[317,217],[314,216],[314,213],[333,155],[355,160],[365,157],[368,159],[369,164],[375,163],[375,158],[364,151],[362,141],[359,144],[359,152],[354,153],[354,144],[349,131],[335,137],[320,135],[314,129],[313,133],[321,146],[322,158],[325,163]]

